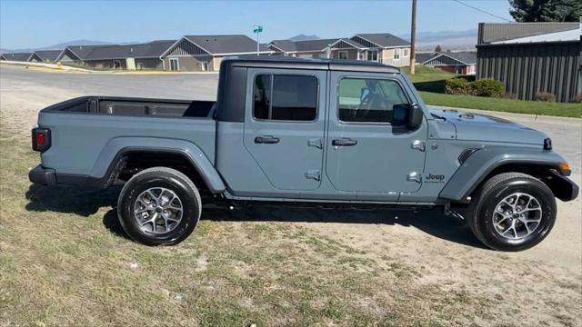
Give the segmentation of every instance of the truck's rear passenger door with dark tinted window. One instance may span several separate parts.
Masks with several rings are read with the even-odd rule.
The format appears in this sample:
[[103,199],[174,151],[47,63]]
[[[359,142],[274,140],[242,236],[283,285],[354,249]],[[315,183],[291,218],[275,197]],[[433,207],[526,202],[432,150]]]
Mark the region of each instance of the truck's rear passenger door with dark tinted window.
[[246,150],[274,189],[315,190],[323,164],[326,72],[251,68],[247,76]]

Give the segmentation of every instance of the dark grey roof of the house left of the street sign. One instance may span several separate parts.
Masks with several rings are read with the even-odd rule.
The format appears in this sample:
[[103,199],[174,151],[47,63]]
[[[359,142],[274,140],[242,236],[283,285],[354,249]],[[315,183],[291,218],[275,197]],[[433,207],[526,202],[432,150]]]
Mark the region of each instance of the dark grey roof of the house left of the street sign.
[[[256,52],[256,41],[246,35],[186,35],[188,41],[209,54],[247,54]],[[168,49],[169,50],[169,49]],[[271,52],[265,45],[259,51]]]

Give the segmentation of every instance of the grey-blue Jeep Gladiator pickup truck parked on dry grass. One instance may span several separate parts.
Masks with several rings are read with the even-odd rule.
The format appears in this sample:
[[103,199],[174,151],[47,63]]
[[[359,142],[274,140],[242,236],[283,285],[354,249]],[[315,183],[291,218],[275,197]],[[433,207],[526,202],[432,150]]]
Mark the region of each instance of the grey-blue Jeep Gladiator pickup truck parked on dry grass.
[[229,206],[461,208],[478,240],[518,251],[550,232],[556,197],[578,193],[546,134],[428,110],[405,74],[368,62],[230,57],[216,103],[76,98],[43,109],[32,141],[31,182],[125,183],[121,225],[151,245],[192,233],[202,194]]

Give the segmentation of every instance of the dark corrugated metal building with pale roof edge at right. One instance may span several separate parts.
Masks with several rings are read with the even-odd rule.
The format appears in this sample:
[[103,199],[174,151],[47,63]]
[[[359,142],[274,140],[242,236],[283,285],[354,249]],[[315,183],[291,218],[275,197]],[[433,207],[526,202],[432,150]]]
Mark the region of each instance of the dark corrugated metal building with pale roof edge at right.
[[501,81],[519,99],[543,92],[572,101],[582,95],[581,51],[580,23],[481,23],[477,79]]

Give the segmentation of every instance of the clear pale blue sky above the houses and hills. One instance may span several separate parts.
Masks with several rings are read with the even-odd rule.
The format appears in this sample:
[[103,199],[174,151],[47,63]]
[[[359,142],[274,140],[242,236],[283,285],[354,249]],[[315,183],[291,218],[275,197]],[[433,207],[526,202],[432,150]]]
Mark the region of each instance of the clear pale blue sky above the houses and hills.
[[[507,0],[459,0],[511,20]],[[13,1],[0,0],[0,48],[23,49],[73,40],[112,43],[181,35],[253,35],[261,42],[294,35],[409,35],[410,0],[395,1]],[[463,31],[503,22],[455,0],[418,0],[416,31]]]

